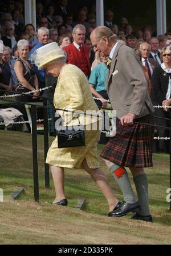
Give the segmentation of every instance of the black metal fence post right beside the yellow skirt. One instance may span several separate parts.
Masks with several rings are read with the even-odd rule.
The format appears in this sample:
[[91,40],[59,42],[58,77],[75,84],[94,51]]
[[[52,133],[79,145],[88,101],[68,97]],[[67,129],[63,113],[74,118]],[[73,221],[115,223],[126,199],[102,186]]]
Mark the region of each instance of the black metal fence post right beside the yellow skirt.
[[43,119],[44,119],[44,178],[45,178],[45,187],[50,189],[49,181],[49,168],[46,163],[46,156],[48,151],[48,112],[47,112],[47,99],[43,99]]

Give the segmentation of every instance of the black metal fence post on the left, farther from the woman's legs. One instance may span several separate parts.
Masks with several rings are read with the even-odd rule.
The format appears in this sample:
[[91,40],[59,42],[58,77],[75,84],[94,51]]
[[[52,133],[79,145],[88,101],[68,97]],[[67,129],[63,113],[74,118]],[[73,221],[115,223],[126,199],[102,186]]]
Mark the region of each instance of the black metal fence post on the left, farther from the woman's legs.
[[32,163],[34,180],[34,199],[39,202],[39,178],[38,178],[38,145],[36,127],[36,106],[31,105],[31,125],[32,125]]

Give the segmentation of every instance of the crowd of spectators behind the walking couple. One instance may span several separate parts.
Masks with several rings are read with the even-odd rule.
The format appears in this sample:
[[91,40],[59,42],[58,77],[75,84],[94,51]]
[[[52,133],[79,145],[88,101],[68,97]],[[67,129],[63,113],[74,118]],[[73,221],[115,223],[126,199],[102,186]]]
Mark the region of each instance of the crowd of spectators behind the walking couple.
[[[31,54],[47,43],[58,42],[61,49],[66,51],[68,63],[82,69],[87,78],[89,78],[91,70],[97,64],[104,62],[100,56],[98,58],[95,56],[89,38],[92,30],[96,27],[95,5],[91,5],[89,8],[82,6],[78,13],[72,14],[68,9],[67,0],[60,0],[58,4],[54,4],[54,1],[45,2],[47,5],[44,6],[41,1],[36,1],[36,27],[31,23],[25,24],[23,1],[10,1],[7,10],[0,14],[0,89],[5,90],[6,94],[18,88],[21,89],[22,86],[27,90],[47,86],[47,81],[51,78],[45,70],[38,70],[34,65],[32,67],[33,63],[31,61]],[[153,94],[152,98],[155,103],[153,87],[155,87],[156,79],[153,79],[153,71],[161,66],[164,61],[161,52],[164,47],[170,45],[171,28],[168,28],[164,35],[158,36],[150,26],[135,30],[133,24],[131,25],[125,17],[122,17],[116,24],[115,13],[109,9],[105,10],[104,25],[113,31],[117,41],[135,49],[139,55],[146,79],[148,79],[148,92],[151,97]],[[25,50],[28,48],[23,59],[21,58],[22,47],[19,42],[25,42],[23,47],[26,48]],[[28,45],[26,42],[28,42]],[[18,58],[20,61],[18,61]],[[20,67],[19,69],[17,65]],[[104,63],[99,66],[99,69],[102,67],[105,70]],[[21,86],[21,75],[19,73],[21,72],[23,75],[23,68],[34,70],[36,79],[38,79],[36,86],[29,87],[29,81],[24,82]],[[97,68],[96,71],[99,72]],[[168,78],[168,84],[170,85],[169,72],[166,73],[165,77]],[[25,79],[27,80],[27,77]],[[90,84],[93,95],[99,95],[98,91],[95,92],[97,85],[93,85],[92,80]],[[101,88],[98,90],[101,91]],[[51,98],[53,97],[53,91],[51,91]],[[103,99],[104,91],[105,87],[102,90],[101,99]],[[4,94],[3,91],[0,92],[0,95],[2,94]],[[36,96],[38,95],[34,95],[35,98]],[[167,97],[170,98],[170,95],[167,94]],[[162,104],[162,102],[158,103]],[[52,105],[52,102],[49,102],[49,104]],[[160,111],[160,115],[162,111],[164,110]],[[164,136],[166,133],[163,131],[159,134]],[[160,150],[164,149],[161,147]]]

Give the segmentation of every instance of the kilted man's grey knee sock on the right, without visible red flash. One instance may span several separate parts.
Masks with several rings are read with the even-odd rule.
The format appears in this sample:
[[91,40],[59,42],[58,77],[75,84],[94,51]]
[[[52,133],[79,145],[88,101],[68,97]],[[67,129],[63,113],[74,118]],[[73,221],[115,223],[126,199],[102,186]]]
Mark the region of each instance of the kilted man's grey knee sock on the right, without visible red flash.
[[139,211],[139,214],[142,216],[148,216],[150,215],[150,211],[148,202],[148,179],[146,174],[144,173],[136,176],[133,178],[133,181],[135,182],[137,195],[142,209]]

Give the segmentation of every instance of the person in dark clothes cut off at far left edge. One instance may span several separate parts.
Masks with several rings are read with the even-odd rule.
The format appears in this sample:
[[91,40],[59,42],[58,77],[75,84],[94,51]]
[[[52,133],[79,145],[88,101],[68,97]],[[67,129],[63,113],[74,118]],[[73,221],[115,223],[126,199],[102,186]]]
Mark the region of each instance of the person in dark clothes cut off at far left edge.
[[[10,66],[6,61],[3,61],[3,51],[5,47],[3,46],[2,40],[0,40],[0,89],[9,92],[12,90],[12,80]],[[0,91],[0,95],[5,94],[5,92]]]

